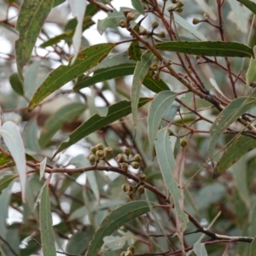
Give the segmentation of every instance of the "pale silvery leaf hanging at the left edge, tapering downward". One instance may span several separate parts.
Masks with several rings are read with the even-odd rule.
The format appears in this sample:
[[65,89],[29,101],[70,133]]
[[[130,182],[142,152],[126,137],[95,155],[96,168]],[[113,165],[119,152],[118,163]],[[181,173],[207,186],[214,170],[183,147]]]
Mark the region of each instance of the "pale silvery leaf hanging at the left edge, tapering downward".
[[1,134],[4,143],[15,160],[15,165],[20,175],[22,200],[26,201],[26,156],[20,130],[15,123],[8,121],[3,124]]

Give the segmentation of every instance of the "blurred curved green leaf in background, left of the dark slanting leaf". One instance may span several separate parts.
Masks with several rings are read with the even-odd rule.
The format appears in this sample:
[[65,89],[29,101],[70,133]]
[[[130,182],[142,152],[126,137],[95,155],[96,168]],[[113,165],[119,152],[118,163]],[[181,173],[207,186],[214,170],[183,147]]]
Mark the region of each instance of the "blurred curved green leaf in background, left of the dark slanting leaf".
[[42,148],[47,146],[50,139],[55,135],[55,133],[61,130],[64,123],[71,123],[74,119],[79,117],[81,113],[84,112],[85,105],[80,102],[73,102],[68,104],[56,113],[54,113],[44,124],[44,127],[39,138],[39,144]]

